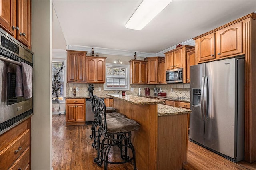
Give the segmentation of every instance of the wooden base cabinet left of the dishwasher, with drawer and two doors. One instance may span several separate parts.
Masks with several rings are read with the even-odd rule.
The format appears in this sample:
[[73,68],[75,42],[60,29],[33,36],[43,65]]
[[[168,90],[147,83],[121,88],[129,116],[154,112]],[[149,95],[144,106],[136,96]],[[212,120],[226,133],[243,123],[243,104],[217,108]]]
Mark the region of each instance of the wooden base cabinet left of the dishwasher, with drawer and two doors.
[[85,99],[66,99],[66,126],[85,125]]

